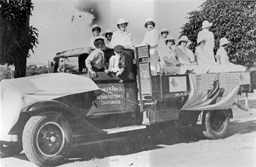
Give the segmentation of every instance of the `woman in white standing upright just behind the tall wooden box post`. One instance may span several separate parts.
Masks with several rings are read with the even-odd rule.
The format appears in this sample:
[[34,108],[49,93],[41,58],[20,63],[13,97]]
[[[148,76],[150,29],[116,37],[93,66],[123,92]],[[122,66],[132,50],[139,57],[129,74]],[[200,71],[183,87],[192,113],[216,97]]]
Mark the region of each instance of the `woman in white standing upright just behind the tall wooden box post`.
[[151,74],[156,75],[158,65],[158,41],[160,38],[159,32],[154,29],[156,23],[152,18],[147,18],[144,23],[147,32],[144,35],[144,39],[141,45],[150,45],[150,58],[145,58],[144,61],[150,62]]

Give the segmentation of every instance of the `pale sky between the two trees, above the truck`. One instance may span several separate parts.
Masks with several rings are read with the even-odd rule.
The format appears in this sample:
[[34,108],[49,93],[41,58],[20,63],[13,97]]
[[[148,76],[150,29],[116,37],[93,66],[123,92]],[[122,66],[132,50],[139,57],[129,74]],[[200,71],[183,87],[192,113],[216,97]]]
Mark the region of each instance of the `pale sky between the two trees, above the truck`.
[[180,27],[188,22],[188,12],[199,10],[203,0],[32,0],[34,10],[31,26],[38,29],[39,44],[27,62],[48,63],[57,52],[83,48],[89,45],[92,24],[102,32],[117,31],[119,18],[130,21],[127,31],[132,43],[139,45],[146,29],[144,21],[151,17],[158,31],[167,28],[176,39]]

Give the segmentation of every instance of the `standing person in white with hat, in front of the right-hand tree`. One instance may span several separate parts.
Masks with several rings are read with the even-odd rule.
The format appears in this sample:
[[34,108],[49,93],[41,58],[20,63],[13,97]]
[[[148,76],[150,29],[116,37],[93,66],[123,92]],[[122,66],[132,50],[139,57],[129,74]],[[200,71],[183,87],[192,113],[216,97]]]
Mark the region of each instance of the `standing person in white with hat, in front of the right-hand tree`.
[[197,39],[205,38],[205,56],[208,56],[210,60],[214,60],[214,34],[210,31],[210,26],[212,26],[212,22],[204,20],[201,26],[202,31],[198,33]]

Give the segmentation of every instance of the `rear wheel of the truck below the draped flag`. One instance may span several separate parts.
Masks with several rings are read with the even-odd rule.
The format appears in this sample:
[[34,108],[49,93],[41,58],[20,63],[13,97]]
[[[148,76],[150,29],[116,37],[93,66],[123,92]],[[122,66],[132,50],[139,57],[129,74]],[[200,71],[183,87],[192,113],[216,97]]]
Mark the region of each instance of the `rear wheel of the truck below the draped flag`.
[[201,139],[223,138],[229,127],[229,112],[226,110],[207,111],[203,125],[195,125],[193,130]]

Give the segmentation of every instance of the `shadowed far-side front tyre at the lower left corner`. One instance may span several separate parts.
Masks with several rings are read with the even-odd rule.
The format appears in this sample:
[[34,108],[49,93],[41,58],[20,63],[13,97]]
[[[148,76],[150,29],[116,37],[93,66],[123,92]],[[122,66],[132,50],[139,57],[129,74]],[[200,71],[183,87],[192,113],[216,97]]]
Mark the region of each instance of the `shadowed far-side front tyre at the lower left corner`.
[[8,142],[8,143],[0,143],[0,158],[3,157],[12,157],[14,155],[19,154],[23,151],[23,145],[20,142]]

